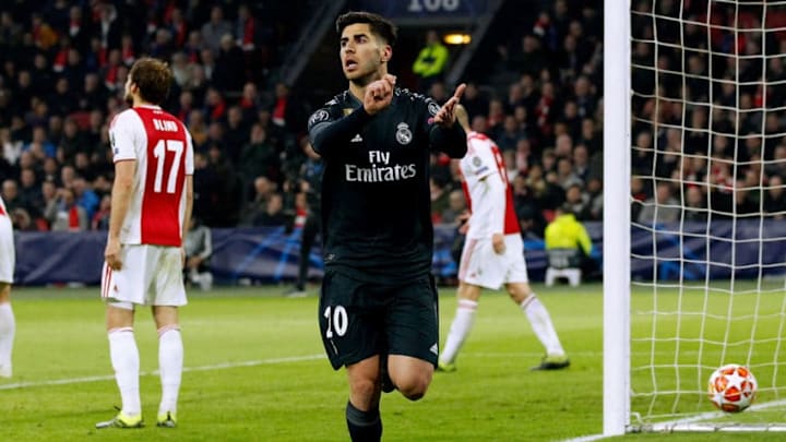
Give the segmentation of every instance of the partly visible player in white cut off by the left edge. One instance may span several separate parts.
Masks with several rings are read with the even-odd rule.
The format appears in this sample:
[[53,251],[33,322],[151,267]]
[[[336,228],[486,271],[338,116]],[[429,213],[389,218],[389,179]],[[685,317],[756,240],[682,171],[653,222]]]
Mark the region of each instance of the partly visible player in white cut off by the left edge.
[[11,309],[14,271],[13,227],[5,203],[0,198],[0,378],[11,378],[11,351],[16,332]]

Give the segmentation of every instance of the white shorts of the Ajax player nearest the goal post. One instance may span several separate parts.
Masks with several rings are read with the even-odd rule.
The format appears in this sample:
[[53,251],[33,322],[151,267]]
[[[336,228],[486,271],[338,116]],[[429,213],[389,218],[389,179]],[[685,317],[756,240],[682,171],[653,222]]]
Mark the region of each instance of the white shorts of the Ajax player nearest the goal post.
[[504,240],[505,252],[497,254],[491,238],[467,238],[462,250],[458,279],[493,290],[508,283],[528,283],[521,235],[505,235]]

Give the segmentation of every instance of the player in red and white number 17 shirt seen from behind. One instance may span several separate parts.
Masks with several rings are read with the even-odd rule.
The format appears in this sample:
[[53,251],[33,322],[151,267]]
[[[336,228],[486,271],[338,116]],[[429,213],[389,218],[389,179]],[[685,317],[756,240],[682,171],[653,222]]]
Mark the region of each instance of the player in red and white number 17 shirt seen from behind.
[[177,422],[183,360],[178,307],[187,302],[182,243],[193,200],[193,146],[183,123],[159,107],[169,93],[171,75],[159,60],[138,60],[126,82],[131,108],[109,127],[115,182],[102,298],[122,408],[96,428],[143,425],[140,356],[133,335],[138,306],[152,306],[158,330],[162,399],[157,425],[175,427]]

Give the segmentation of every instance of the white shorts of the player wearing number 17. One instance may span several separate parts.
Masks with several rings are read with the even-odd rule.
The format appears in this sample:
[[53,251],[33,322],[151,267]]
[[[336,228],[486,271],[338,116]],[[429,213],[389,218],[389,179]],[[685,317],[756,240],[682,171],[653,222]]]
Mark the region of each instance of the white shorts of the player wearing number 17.
[[122,268],[118,272],[104,262],[102,299],[142,306],[184,306],[180,248],[124,244]]

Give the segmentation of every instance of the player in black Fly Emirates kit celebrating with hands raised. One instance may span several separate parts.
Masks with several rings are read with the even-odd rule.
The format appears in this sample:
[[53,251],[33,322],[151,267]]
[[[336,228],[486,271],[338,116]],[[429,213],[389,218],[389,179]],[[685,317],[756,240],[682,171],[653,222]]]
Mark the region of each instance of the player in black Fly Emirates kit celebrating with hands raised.
[[347,369],[349,435],[379,441],[381,392],[417,401],[437,365],[429,155],[464,156],[453,115],[464,85],[441,108],[397,88],[388,73],[396,28],[379,15],[348,12],[336,31],[349,88],[308,124],[324,160],[319,319],[333,368]]

